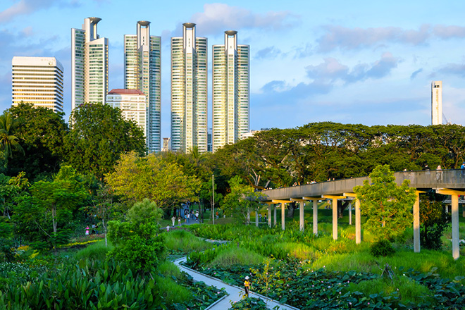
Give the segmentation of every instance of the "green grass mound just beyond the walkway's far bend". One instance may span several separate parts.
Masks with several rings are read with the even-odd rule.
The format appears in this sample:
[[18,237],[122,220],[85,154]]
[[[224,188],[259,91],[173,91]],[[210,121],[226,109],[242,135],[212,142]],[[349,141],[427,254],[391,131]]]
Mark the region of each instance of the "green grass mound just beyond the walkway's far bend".
[[166,234],[165,245],[168,249],[189,253],[203,251],[214,247],[210,242],[199,239],[186,230],[173,230]]

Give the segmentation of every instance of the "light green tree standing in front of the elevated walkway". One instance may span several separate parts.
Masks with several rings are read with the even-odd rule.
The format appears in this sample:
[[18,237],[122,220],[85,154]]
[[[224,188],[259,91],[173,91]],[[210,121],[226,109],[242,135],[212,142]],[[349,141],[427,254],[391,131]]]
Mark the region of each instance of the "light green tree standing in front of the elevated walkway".
[[377,166],[370,173],[371,184],[354,187],[360,201],[360,211],[367,216],[366,230],[378,239],[392,239],[411,226],[411,208],[416,201],[416,189],[409,187],[409,180],[397,186],[388,165]]

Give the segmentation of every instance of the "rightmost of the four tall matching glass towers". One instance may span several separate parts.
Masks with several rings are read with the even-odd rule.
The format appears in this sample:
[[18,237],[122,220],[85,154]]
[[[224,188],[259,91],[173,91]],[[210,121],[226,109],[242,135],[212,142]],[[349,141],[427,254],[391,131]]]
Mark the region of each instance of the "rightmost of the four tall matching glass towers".
[[213,151],[249,132],[249,46],[237,32],[225,31],[225,44],[213,45]]

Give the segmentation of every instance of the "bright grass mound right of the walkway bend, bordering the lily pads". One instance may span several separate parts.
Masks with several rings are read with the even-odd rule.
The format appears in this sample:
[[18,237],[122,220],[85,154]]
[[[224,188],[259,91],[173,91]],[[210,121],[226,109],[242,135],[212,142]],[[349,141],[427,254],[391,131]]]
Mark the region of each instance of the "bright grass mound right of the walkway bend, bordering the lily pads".
[[242,247],[228,247],[216,256],[209,267],[228,267],[231,265],[254,265],[262,263],[264,256]]

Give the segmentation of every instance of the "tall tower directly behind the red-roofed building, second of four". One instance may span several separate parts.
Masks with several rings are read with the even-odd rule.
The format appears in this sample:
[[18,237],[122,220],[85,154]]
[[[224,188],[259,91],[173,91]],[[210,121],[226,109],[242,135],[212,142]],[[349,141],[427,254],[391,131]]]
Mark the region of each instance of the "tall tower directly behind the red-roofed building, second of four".
[[145,137],[149,152],[161,147],[161,38],[150,35],[150,22],[137,22],[137,34],[124,36],[124,86],[147,97]]

